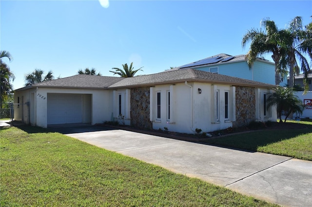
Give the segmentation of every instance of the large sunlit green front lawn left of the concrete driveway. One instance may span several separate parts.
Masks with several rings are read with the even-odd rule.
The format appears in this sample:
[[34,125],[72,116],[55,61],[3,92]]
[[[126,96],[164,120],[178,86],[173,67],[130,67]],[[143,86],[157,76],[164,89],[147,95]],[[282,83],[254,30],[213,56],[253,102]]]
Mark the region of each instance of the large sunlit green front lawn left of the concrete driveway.
[[0,206],[275,206],[48,130],[0,131]]

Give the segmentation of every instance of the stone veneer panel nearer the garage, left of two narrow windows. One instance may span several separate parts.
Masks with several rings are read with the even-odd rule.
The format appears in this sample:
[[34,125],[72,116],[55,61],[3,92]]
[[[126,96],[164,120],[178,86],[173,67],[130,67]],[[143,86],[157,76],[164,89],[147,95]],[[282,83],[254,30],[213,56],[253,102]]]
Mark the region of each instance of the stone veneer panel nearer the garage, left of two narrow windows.
[[130,93],[131,126],[152,129],[150,121],[150,87],[131,88]]

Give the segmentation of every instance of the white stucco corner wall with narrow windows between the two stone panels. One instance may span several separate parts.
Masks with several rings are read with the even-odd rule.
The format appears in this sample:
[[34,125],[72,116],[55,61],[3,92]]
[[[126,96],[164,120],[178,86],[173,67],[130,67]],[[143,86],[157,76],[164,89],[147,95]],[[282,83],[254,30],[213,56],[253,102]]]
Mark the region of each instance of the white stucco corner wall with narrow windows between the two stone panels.
[[[201,89],[201,94],[198,93],[198,88]],[[215,100],[213,95],[216,88],[219,93],[218,105],[218,121],[215,119],[214,105]],[[224,92],[230,91],[231,86],[216,85],[205,83],[184,83],[174,86],[155,86],[152,88],[151,94],[151,121],[153,121],[154,129],[162,129],[167,127],[169,131],[195,133],[195,129],[201,129],[203,132],[212,132],[220,129],[232,127],[233,105],[229,99],[229,119],[224,118]],[[168,91],[171,91],[171,107],[172,115],[170,120],[168,116]],[[161,92],[161,119],[156,118],[156,94]]]

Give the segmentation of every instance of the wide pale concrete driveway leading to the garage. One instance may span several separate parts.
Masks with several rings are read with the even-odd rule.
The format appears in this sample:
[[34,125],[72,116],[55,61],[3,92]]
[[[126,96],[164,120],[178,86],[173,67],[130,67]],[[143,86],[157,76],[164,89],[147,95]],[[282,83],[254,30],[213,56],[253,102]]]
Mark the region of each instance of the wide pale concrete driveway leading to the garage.
[[67,136],[175,173],[291,207],[312,204],[312,162],[107,127],[55,128]]

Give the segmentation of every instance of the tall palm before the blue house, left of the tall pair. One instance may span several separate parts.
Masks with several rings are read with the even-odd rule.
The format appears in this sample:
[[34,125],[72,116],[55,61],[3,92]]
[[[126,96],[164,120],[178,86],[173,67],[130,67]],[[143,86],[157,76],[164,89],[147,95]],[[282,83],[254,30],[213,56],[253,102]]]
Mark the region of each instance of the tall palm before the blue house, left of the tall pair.
[[275,22],[269,19],[262,20],[260,25],[265,28],[265,32],[261,29],[248,30],[243,36],[242,47],[244,48],[248,42],[251,42],[249,52],[246,55],[246,60],[251,68],[257,57],[266,53],[273,53],[272,59],[275,64],[275,84],[279,85],[279,75],[285,74],[285,70],[279,67],[279,60],[283,54],[283,48],[280,47],[280,41],[283,38],[283,32],[278,30]]

